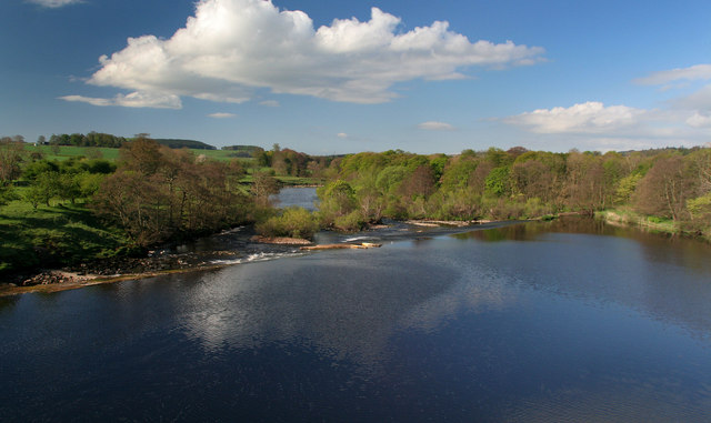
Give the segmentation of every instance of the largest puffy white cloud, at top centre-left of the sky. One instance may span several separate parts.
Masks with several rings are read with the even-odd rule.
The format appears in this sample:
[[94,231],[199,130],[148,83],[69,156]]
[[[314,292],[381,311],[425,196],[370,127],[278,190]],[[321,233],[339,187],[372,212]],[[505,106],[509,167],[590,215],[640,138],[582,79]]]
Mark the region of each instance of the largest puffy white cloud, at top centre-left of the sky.
[[336,19],[314,29],[304,12],[280,11],[271,0],[201,0],[170,39],[130,38],[101,57],[89,83],[213,101],[268,89],[382,103],[398,97],[398,82],[458,79],[471,67],[532,64],[542,54],[511,41],[471,42],[442,21],[404,31],[400,18],[378,8],[369,21]]

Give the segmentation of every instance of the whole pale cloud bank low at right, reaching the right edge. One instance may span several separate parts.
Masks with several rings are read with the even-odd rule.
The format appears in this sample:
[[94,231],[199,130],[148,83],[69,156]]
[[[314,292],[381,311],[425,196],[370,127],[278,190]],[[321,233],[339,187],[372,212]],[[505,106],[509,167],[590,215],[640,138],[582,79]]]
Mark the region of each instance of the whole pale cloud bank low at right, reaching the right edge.
[[[604,105],[589,101],[539,109],[497,119],[540,137],[542,142],[577,143],[590,150],[631,150],[667,145],[700,145],[711,128],[711,64],[654,72],[633,82],[691,92],[664,102],[662,109]],[[695,89],[695,91],[693,91]]]

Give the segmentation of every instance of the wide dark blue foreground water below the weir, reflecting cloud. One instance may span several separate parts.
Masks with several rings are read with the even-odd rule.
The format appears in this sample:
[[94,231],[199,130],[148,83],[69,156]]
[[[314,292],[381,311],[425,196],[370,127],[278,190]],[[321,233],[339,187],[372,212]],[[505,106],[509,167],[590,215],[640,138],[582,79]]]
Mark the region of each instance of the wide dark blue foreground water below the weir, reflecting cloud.
[[711,249],[584,219],[0,299],[2,421],[710,421]]

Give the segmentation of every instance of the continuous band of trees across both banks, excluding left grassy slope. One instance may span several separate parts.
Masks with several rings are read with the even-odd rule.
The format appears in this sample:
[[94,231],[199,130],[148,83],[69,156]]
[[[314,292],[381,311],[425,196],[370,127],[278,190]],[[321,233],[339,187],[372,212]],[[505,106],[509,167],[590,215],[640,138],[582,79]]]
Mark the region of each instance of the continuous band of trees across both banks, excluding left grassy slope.
[[[274,144],[253,150],[257,169],[244,183],[237,159],[210,160],[142,135],[122,143],[117,162],[48,161],[27,154],[22,141],[0,139],[0,204],[21,198],[37,208],[52,199],[88,199],[98,215],[143,246],[243,222],[270,235],[310,236],[319,226],[352,231],[383,218],[507,220],[611,208],[711,232],[709,148],[311,157]],[[271,209],[274,174],[321,179],[319,212],[309,218]],[[17,184],[26,187],[16,190]]]

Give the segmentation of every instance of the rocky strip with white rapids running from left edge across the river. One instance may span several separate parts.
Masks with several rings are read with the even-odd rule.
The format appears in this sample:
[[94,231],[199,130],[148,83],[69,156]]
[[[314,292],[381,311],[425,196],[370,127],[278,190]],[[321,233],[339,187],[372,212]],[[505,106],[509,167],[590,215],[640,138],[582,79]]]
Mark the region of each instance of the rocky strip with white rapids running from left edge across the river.
[[[391,224],[372,225],[362,233],[365,238],[372,239],[388,236],[402,239],[402,236],[415,236],[415,233],[417,236],[421,236],[422,231],[432,231],[433,234],[444,234],[465,231],[469,228],[475,228],[482,224],[495,223],[507,222],[488,220],[469,222],[410,220],[403,222],[391,222]],[[413,231],[412,235],[408,235],[407,232],[402,232],[405,228],[410,228],[415,231]],[[441,229],[444,232],[438,229]],[[271,256],[271,254],[281,254],[283,252],[293,252],[299,250],[321,251],[381,246],[381,243],[379,242],[362,242],[361,240],[360,243],[357,243],[352,241],[352,238],[347,238],[336,243],[332,238],[329,238],[328,241],[322,241],[320,244],[309,240],[294,238],[266,238],[253,234],[253,229],[251,226],[242,226],[231,231],[223,231],[220,234],[206,238],[202,241],[214,238],[224,238],[228,241],[216,245],[219,248],[217,250],[179,253],[178,251],[181,249],[173,245],[172,249],[158,249],[149,252],[148,255],[140,258],[120,256],[93,260],[61,269],[42,269],[38,271],[16,273],[0,281],[0,296],[29,292],[58,292],[102,283],[152,278],[161,274],[216,270],[232,264],[250,262],[252,260],[251,256],[260,256],[260,254]],[[357,239],[360,240],[361,236],[357,236]],[[197,243],[200,242],[201,241],[199,240]],[[299,250],[293,250],[294,248]]]

